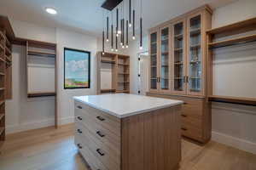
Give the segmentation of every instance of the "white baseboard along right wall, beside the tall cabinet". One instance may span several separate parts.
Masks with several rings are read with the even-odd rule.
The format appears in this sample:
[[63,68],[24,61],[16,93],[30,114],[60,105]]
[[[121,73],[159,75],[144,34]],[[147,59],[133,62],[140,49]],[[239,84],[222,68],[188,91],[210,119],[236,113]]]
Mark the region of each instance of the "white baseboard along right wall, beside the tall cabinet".
[[245,150],[256,155],[256,143],[250,142],[248,140],[238,139],[233,136],[214,131],[212,131],[212,140],[221,144],[232,146],[239,150]]

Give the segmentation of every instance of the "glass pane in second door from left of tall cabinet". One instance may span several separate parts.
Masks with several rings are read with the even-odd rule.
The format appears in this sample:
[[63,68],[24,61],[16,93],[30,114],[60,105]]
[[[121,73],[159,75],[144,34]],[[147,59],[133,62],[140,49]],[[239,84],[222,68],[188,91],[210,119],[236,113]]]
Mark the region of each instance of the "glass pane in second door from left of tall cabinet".
[[169,88],[169,28],[161,30],[160,36],[160,88]]

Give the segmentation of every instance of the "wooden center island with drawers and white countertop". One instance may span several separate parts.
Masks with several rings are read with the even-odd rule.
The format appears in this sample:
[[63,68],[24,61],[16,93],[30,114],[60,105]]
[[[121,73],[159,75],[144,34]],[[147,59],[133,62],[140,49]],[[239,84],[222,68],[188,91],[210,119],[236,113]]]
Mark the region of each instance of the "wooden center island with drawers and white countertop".
[[74,97],[75,144],[91,170],[174,170],[182,104],[135,94]]

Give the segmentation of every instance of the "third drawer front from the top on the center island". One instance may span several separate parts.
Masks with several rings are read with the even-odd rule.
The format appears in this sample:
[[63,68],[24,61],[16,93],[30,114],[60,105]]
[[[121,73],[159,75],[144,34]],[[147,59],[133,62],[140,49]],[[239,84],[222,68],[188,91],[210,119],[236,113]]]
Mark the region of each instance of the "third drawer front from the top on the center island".
[[96,159],[111,170],[119,170],[120,157],[114,156],[112,151],[104,144],[101,144],[97,139],[94,139],[86,129],[82,128],[83,133],[79,134],[79,140],[96,156]]

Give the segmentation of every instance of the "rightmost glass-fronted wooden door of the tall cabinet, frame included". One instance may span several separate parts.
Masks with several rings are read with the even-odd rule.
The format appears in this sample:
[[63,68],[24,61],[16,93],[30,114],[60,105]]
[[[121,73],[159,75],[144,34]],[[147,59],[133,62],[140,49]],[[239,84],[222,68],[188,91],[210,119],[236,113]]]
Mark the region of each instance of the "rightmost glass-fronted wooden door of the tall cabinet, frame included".
[[202,14],[195,14],[188,20],[188,94],[201,95],[203,92],[202,58]]

